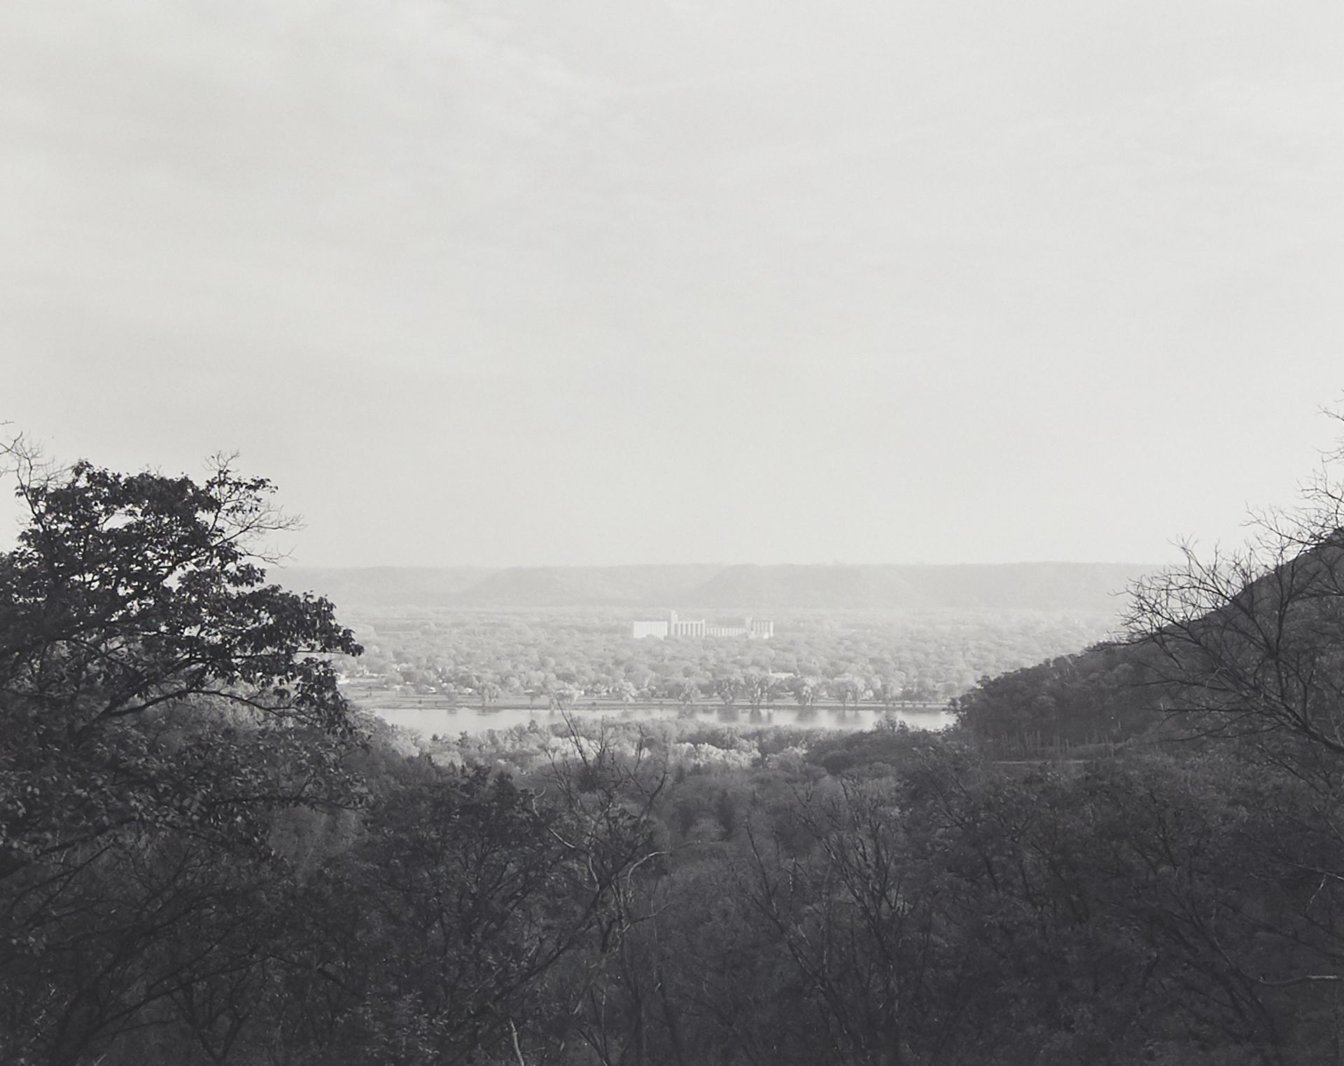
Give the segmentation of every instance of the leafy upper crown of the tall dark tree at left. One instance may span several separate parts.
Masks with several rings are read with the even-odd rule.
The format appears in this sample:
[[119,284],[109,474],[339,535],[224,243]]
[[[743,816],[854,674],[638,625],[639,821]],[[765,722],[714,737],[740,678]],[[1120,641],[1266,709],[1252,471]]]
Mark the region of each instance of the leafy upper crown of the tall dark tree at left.
[[347,729],[332,653],[358,655],[332,605],[265,585],[258,540],[289,528],[273,485],[220,460],[190,477],[17,462],[28,526],[0,555],[0,694],[60,714],[75,743],[118,719],[212,695]]

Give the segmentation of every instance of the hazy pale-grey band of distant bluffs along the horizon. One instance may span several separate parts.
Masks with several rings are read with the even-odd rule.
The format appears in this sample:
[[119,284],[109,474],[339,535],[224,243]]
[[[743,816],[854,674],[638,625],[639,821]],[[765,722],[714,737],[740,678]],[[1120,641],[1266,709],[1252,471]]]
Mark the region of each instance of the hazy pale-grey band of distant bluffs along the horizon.
[[626,606],[723,610],[1077,610],[1118,613],[1160,569],[1138,563],[952,566],[284,567],[271,578],[349,608]]

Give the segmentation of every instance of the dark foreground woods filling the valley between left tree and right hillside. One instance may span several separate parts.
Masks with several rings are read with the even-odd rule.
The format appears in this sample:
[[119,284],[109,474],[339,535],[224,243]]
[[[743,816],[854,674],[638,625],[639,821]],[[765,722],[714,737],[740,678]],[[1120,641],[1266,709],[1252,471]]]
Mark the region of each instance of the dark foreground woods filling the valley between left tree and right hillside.
[[1305,785],[1019,777],[905,731],[698,768],[554,739],[521,777],[374,741],[345,811],[11,875],[7,1061],[1332,1061],[1344,855]]

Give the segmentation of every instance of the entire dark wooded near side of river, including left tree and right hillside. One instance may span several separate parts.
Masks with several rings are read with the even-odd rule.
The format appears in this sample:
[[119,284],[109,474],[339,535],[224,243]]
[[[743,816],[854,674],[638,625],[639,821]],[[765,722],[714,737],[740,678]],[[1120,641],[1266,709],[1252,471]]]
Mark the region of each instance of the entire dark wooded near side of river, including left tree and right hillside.
[[943,734],[414,750],[270,585],[273,487],[12,449],[0,1062],[1327,1063],[1337,496]]

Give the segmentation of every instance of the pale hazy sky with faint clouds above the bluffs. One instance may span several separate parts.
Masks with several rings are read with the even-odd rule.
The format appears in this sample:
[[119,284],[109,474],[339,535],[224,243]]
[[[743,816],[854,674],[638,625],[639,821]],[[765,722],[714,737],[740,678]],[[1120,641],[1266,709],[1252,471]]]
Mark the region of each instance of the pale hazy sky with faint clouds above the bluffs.
[[0,419],[310,565],[1164,559],[1333,437],[1341,31],[11,0]]

